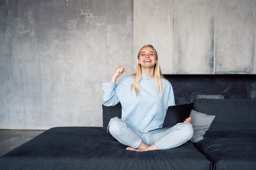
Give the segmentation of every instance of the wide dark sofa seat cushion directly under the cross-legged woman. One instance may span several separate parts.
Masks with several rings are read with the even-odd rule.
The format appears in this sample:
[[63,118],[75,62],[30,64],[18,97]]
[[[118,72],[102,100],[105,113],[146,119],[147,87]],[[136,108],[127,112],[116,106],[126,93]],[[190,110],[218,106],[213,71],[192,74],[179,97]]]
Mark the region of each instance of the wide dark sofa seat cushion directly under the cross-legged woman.
[[0,157],[0,170],[210,170],[191,141],[170,150],[126,150],[102,127],[56,127]]

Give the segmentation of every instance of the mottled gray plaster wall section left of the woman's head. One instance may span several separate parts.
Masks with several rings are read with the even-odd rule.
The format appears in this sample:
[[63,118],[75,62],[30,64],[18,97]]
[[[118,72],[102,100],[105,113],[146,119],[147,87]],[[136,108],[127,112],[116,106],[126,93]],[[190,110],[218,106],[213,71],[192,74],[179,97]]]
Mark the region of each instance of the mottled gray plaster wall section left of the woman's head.
[[102,126],[101,83],[133,73],[132,0],[0,1],[0,128]]

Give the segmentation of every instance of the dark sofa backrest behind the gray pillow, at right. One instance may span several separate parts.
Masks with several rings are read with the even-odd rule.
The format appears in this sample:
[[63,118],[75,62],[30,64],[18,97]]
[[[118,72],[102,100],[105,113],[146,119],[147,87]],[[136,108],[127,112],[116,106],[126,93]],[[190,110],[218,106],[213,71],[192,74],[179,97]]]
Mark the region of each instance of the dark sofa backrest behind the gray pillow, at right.
[[193,110],[216,115],[207,132],[256,130],[255,99],[194,99]]

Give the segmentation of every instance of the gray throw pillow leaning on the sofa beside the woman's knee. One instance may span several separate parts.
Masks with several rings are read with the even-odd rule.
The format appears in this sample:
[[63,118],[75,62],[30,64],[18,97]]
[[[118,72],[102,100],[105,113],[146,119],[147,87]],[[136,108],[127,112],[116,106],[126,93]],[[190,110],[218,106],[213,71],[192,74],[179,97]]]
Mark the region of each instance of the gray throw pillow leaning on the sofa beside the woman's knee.
[[193,143],[196,143],[204,139],[203,135],[210,128],[211,123],[213,122],[215,116],[191,110],[190,117],[192,119],[191,124],[194,130],[194,135],[191,138],[191,141]]

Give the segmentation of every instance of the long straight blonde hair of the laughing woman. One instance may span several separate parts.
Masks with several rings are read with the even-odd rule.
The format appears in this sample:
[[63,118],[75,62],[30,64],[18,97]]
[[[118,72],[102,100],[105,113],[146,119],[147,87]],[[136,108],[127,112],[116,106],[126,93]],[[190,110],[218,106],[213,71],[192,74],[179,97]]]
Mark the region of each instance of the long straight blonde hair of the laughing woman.
[[158,60],[158,56],[157,56],[157,51],[155,50],[153,45],[148,44],[148,45],[145,45],[145,46],[141,47],[141,49],[139,50],[138,57],[137,57],[137,72],[135,74],[133,74],[134,80],[133,80],[133,83],[132,83],[132,86],[131,86],[131,90],[132,90],[132,87],[133,87],[134,90],[135,90],[136,96],[139,94],[139,80],[142,77],[141,65],[139,64],[139,56],[141,54],[141,50],[144,47],[147,47],[147,46],[151,47],[154,50],[155,57],[156,57],[156,60],[157,60],[157,63],[154,66],[154,78],[155,78],[155,81],[157,83],[158,94],[162,93],[162,91],[163,91],[163,85],[162,85],[161,78],[164,78],[164,76],[162,75],[162,71],[160,69],[159,60]]

